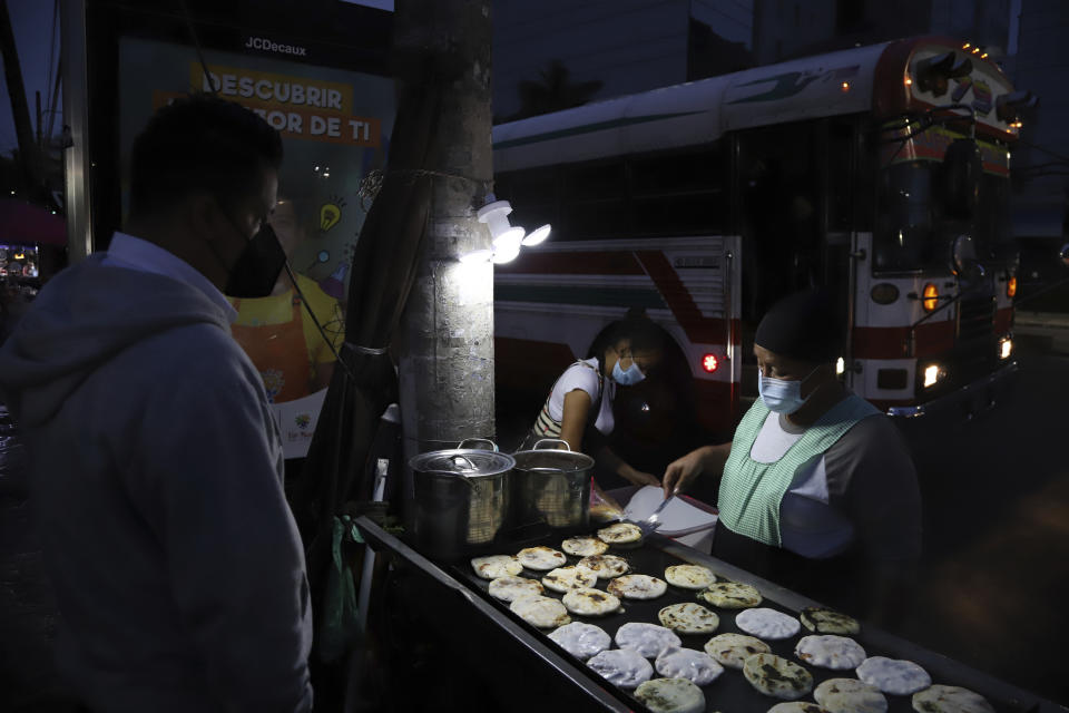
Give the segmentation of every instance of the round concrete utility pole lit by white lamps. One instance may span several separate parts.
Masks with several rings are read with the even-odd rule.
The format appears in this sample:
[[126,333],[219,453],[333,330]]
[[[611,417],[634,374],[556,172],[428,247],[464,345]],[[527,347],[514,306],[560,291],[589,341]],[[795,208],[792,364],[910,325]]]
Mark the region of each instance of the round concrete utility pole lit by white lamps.
[[428,169],[434,178],[426,252],[400,335],[405,455],[491,438],[493,266],[458,261],[490,246],[475,219],[493,178],[490,0],[398,0],[394,41],[448,84]]

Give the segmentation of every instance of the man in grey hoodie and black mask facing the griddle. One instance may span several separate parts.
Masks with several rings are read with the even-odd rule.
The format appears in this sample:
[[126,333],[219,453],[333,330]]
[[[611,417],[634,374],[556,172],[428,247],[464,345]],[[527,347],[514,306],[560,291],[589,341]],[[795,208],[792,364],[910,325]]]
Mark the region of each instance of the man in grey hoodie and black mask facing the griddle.
[[274,207],[278,134],[214,97],[160,109],[110,248],[56,276],[0,351],[92,711],[307,711],[311,611],[263,382],[222,290]]

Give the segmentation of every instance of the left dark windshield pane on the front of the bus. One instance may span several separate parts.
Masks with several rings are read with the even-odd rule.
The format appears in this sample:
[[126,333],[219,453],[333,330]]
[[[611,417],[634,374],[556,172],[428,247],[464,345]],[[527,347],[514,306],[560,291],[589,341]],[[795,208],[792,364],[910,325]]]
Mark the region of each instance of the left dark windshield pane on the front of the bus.
[[880,177],[880,204],[873,236],[873,267],[919,270],[935,255],[934,162],[911,162],[886,168]]

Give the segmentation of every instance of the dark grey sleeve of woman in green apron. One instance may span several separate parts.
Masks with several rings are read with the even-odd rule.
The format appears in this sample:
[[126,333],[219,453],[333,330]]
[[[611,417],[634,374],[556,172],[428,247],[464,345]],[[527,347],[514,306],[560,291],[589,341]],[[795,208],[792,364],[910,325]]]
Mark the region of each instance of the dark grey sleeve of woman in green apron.
[[913,561],[921,554],[916,468],[885,417],[866,418],[825,453],[828,494],[854,526],[873,563]]

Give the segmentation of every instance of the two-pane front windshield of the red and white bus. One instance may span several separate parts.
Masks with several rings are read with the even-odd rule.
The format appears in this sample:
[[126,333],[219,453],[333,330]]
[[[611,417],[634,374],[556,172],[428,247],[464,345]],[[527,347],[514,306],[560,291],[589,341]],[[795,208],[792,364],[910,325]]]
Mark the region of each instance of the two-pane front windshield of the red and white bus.
[[950,245],[971,235],[983,258],[1003,258],[1012,250],[1009,229],[1009,178],[984,174],[972,221],[945,216],[939,203],[941,164],[920,160],[896,164],[880,177],[880,201],[873,235],[874,268],[913,271],[944,268]]

